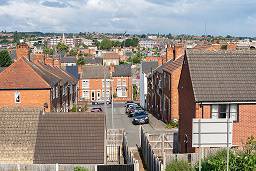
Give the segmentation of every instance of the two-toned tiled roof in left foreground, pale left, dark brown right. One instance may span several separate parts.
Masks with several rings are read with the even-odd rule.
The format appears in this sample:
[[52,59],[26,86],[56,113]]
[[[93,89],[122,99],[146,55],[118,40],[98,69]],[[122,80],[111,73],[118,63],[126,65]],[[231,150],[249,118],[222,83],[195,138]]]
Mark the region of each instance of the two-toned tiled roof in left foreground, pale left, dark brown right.
[[103,164],[103,113],[0,110],[0,163]]

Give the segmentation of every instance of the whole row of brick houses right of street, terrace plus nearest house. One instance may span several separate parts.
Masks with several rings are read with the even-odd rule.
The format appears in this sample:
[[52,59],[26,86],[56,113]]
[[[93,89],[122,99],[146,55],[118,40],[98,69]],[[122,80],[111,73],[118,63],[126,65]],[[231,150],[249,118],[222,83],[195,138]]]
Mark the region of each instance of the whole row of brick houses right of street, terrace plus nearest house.
[[146,96],[147,109],[155,117],[165,122],[179,120],[179,152],[196,151],[193,118],[230,118],[234,147],[255,137],[256,52],[183,52],[177,56],[174,48],[173,58],[147,75]]

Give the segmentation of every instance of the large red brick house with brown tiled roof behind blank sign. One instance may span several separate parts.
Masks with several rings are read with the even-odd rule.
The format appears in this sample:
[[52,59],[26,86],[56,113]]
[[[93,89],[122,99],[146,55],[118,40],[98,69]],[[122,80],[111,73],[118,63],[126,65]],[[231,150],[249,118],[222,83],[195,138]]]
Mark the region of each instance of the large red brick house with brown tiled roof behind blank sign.
[[256,137],[255,66],[254,51],[186,52],[178,86],[179,152],[195,151],[193,118],[232,119],[233,146]]

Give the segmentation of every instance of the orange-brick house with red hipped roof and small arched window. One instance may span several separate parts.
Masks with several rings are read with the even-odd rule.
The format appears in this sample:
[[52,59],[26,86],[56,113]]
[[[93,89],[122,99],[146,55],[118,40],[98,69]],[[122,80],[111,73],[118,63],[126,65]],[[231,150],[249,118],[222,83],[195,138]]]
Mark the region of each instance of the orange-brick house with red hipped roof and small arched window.
[[0,73],[1,107],[41,107],[68,111],[76,99],[76,80],[59,67],[18,58]]

